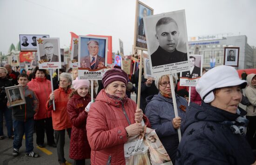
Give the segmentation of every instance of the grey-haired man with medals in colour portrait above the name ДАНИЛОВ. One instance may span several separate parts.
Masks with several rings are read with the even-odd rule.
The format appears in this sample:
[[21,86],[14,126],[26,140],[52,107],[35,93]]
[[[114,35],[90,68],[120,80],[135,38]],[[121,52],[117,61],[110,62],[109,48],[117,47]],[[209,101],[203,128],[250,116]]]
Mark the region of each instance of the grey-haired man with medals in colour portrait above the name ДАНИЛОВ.
[[90,40],[87,43],[89,56],[81,58],[81,67],[82,68],[89,68],[89,69],[97,69],[98,65],[105,64],[105,58],[100,57],[98,55],[99,52],[99,43],[95,40]]

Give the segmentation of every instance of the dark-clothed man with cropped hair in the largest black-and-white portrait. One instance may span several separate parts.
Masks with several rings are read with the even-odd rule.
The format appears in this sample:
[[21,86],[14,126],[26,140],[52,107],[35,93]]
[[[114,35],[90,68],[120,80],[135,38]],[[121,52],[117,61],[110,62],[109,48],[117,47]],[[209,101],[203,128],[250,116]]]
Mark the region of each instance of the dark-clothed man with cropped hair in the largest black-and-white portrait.
[[159,19],[155,25],[155,37],[158,49],[151,54],[152,67],[187,61],[187,53],[177,51],[179,29],[176,21],[170,17]]

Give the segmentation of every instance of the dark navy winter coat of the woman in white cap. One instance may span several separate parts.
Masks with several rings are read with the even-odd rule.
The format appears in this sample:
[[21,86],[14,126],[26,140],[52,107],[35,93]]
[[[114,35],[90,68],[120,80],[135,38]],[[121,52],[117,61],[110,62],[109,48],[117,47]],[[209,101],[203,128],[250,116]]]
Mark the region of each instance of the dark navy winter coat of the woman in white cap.
[[[241,115],[246,112],[241,110]],[[191,103],[185,116],[185,132],[178,146],[176,165],[251,165],[255,156],[243,135],[232,132],[230,122],[238,114]]]

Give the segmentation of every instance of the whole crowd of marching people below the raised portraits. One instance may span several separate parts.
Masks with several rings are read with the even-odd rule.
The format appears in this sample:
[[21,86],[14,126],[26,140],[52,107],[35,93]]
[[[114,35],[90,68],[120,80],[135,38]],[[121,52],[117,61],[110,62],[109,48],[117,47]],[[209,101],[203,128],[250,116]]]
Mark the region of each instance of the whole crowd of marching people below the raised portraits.
[[[56,147],[58,162],[65,165],[67,134],[74,165],[125,165],[124,144],[128,137],[140,134],[145,123],[155,129],[173,165],[256,164],[256,74],[241,80],[230,66],[204,70],[191,89],[189,106],[188,92],[175,77],[170,82],[169,75],[155,80],[142,75],[141,106],[137,108],[129,97],[137,92],[132,83],[138,83],[138,71],[130,80],[118,67],[108,70],[99,81],[97,94],[94,90],[94,101],[90,81],[77,79],[76,69],[71,72],[73,77],[60,72],[52,92],[47,70],[37,67],[28,75],[13,71],[9,64],[0,67],[0,140],[5,138],[4,116],[7,136],[13,139],[13,156],[19,155],[25,134],[26,156],[39,157],[33,151],[33,134],[36,144],[45,147],[46,133],[47,145]],[[171,83],[176,86],[179,117],[174,113]],[[10,107],[5,87],[18,84],[26,104]],[[242,99],[246,109],[239,107]]]

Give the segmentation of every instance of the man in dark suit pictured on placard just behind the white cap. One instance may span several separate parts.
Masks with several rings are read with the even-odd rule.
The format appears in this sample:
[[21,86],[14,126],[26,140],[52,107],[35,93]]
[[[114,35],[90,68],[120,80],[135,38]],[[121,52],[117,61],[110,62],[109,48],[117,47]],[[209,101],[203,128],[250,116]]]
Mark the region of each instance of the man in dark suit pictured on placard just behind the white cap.
[[197,66],[195,66],[195,57],[190,56],[189,57],[189,63],[190,63],[190,70],[182,72],[182,77],[189,77],[189,78],[196,78],[198,76],[201,76],[201,69]]

